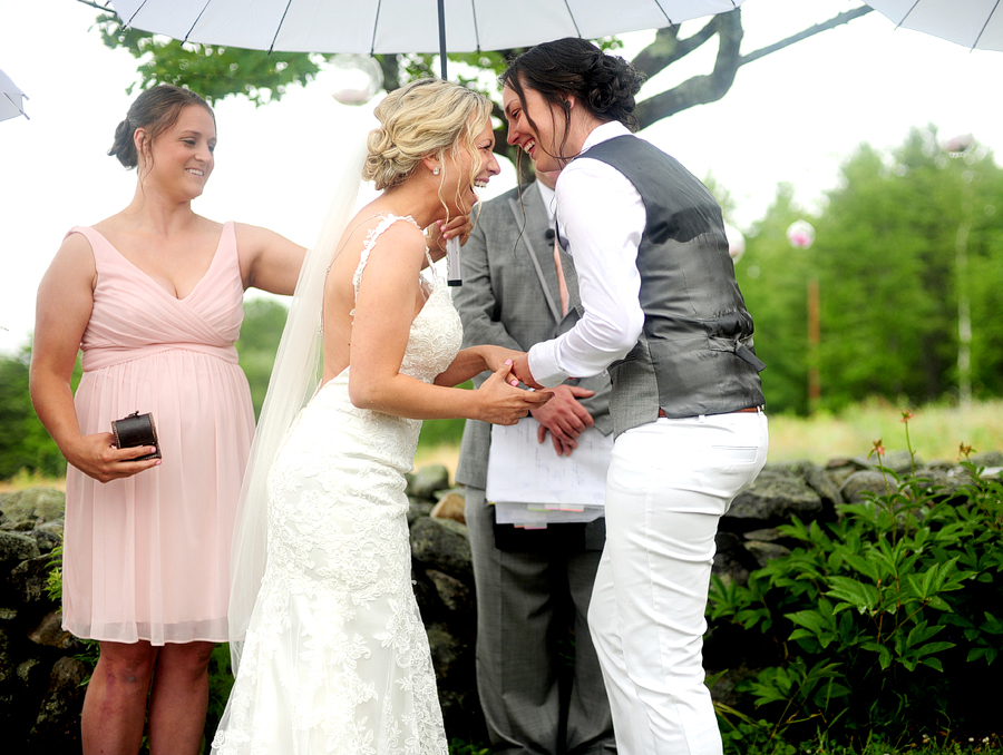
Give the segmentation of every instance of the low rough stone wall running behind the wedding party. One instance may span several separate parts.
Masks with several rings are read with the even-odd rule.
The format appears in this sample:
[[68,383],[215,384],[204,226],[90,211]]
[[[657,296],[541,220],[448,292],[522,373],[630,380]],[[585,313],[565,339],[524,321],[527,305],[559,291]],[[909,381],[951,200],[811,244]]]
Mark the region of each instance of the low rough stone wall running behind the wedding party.
[[[976,463],[1003,467],[1003,453],[981,454]],[[909,470],[907,453],[885,464]],[[951,462],[919,464],[945,494],[966,482]],[[837,459],[825,467],[795,462],[767,467],[721,520],[714,572],[744,584],[749,572],[790,551],[777,527],[791,517],[828,521],[843,502],[866,491],[885,492],[884,477],[866,459]],[[449,738],[485,742],[474,679],[476,614],[470,543],[462,522],[462,489],[450,489],[442,467],[427,467],[409,479],[408,521],[415,591],[428,630]],[[59,606],[46,590],[52,549],[62,533],[64,496],[30,489],[0,494],[0,731],[8,752],[79,752],[79,715],[89,674],[75,658],[82,646],[60,628]],[[708,669],[754,666],[750,638],[708,635]],[[726,678],[714,694],[726,702]]]

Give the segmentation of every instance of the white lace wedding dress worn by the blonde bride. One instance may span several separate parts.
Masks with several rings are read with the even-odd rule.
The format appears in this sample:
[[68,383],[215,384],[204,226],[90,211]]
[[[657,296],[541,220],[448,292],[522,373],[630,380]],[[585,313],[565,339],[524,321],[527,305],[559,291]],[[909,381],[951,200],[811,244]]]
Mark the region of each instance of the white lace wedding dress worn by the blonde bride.
[[[367,238],[356,292],[383,217]],[[462,340],[432,273],[400,371],[431,382]],[[352,405],[349,369],[300,413],[269,475],[267,567],[213,752],[442,755],[411,587],[405,472],[420,420]]]

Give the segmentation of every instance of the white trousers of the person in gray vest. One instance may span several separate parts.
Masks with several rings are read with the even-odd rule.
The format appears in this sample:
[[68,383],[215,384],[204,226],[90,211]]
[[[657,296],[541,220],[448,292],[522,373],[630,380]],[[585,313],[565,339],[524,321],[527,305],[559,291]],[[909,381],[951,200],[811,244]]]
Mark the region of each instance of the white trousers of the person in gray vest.
[[663,418],[613,445],[588,625],[619,755],[722,752],[702,658],[714,536],[767,447],[762,412]]

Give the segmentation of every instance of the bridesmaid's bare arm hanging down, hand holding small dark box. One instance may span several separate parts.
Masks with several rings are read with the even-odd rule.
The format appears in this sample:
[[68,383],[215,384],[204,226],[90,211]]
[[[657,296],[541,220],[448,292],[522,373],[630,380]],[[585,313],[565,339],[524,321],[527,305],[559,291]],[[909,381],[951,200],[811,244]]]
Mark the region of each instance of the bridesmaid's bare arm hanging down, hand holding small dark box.
[[94,310],[96,281],[90,244],[80,234],[69,235],[38,287],[29,390],[38,419],[67,462],[107,482],[142,472],[158,461],[132,461],[154,449],[116,449],[110,432],[80,434],[70,378]]

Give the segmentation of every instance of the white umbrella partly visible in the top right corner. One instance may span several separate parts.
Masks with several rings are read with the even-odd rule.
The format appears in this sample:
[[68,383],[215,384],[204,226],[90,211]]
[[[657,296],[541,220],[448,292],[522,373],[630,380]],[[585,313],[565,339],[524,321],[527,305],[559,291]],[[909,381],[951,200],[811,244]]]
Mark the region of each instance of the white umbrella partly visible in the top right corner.
[[1000,0],[867,0],[904,29],[924,31],[970,49],[1003,51]]

